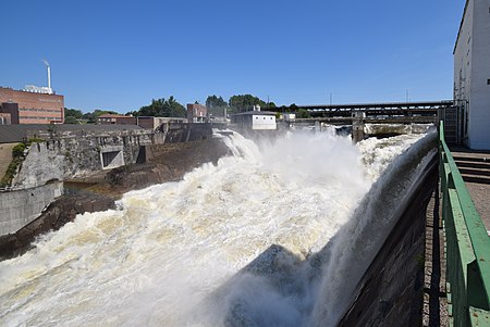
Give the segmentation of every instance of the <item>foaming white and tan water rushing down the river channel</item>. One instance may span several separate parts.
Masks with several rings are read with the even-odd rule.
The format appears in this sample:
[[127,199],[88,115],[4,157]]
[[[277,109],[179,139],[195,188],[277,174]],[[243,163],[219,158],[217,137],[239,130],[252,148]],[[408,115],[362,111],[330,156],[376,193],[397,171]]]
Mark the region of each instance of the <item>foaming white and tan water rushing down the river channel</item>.
[[225,137],[233,155],[216,166],[128,192],[120,210],[79,215],[1,262],[0,325],[334,324],[345,303],[332,284],[348,255],[323,248],[362,219],[371,185],[420,138]]

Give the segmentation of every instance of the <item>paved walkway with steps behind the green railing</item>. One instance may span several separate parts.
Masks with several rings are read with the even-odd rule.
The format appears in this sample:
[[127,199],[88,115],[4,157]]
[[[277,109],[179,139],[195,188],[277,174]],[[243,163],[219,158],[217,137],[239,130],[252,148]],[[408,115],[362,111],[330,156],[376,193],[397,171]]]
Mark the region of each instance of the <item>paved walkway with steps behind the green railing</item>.
[[473,203],[490,230],[490,151],[450,147]]

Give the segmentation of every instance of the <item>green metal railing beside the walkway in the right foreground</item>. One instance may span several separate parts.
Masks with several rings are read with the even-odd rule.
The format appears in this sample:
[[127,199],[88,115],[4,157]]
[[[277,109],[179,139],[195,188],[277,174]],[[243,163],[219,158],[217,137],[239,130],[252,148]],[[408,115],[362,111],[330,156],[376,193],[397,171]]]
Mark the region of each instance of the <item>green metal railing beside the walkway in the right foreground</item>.
[[439,155],[450,326],[490,326],[490,237],[445,143],[442,122]]

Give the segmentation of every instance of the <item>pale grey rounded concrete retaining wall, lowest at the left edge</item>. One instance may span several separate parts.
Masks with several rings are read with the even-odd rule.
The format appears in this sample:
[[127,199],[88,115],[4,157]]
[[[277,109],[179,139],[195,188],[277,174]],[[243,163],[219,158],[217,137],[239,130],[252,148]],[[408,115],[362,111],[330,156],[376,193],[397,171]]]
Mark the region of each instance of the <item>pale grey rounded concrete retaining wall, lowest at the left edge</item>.
[[0,192],[0,235],[15,232],[27,225],[62,193],[62,183]]

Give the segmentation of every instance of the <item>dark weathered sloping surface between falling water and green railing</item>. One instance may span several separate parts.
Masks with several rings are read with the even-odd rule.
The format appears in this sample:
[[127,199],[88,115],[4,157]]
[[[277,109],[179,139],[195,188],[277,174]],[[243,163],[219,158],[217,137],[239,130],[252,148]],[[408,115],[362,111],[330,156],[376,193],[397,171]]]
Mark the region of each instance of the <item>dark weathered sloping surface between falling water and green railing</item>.
[[421,325],[426,211],[437,180],[433,162],[358,284],[355,301],[339,326]]

